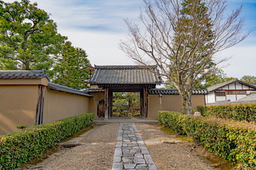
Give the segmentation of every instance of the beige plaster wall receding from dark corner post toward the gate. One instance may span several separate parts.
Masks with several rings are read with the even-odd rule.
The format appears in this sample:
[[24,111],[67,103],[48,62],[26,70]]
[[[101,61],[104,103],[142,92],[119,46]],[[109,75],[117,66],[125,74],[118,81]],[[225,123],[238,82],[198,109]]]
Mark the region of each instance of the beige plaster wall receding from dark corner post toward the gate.
[[89,98],[45,89],[43,123],[89,113]]

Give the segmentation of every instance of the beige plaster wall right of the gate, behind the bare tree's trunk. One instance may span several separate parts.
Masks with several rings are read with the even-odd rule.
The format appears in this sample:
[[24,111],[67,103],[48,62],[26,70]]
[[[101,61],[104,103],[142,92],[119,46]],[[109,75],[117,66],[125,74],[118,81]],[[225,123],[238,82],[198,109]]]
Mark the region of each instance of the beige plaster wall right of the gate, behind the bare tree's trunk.
[[[204,95],[193,95],[191,98],[192,107],[204,106]],[[156,119],[158,111],[161,110],[159,95],[148,96],[148,118]],[[163,95],[162,111],[181,111],[182,103],[179,95]]]

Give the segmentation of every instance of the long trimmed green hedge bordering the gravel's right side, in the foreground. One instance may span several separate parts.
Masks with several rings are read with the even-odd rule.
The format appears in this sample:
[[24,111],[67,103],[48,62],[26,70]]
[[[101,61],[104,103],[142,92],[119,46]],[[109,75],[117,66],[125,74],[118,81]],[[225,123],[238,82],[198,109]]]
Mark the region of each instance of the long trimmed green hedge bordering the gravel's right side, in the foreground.
[[193,140],[230,162],[256,169],[256,125],[220,118],[194,117],[159,111],[158,120],[171,130],[193,137]]

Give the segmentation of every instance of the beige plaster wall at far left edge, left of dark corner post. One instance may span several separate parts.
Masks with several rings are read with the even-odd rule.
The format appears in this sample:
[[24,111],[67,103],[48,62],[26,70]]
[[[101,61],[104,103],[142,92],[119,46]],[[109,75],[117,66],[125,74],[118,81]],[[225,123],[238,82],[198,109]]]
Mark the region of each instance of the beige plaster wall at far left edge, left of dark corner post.
[[38,85],[0,85],[0,135],[35,125],[37,101]]

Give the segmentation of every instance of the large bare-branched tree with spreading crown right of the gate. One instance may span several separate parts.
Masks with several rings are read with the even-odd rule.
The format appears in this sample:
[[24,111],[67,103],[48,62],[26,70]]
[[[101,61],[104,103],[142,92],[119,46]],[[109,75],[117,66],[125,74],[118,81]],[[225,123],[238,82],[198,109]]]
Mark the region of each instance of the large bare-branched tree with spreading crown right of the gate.
[[[127,40],[120,48],[144,66],[155,63],[178,89],[183,113],[192,114],[193,89],[225,59],[217,52],[244,40],[242,6],[226,15],[225,0],[144,0],[142,27],[125,20]],[[226,16],[226,17],[225,17]]]

